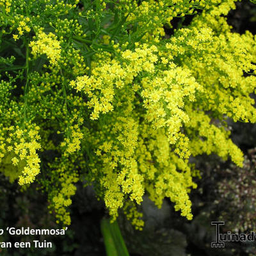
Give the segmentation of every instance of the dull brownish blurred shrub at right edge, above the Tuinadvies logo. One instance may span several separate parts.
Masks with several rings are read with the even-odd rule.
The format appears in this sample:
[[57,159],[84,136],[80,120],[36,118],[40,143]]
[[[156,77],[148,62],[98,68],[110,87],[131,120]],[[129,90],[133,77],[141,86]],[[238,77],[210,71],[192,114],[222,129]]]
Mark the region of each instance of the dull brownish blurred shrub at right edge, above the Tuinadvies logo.
[[[255,230],[255,149],[249,150],[244,158],[243,168],[230,164],[223,172],[220,166],[216,169],[223,176],[217,183],[217,199],[214,204],[220,209],[219,220],[225,220],[229,230],[247,232]],[[230,218],[230,213],[237,214]]]

